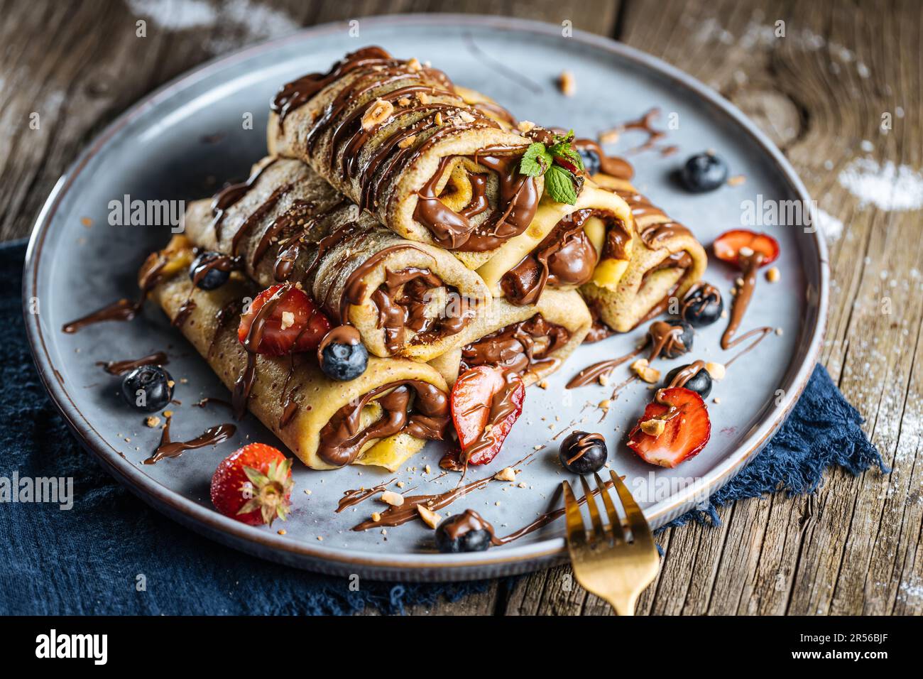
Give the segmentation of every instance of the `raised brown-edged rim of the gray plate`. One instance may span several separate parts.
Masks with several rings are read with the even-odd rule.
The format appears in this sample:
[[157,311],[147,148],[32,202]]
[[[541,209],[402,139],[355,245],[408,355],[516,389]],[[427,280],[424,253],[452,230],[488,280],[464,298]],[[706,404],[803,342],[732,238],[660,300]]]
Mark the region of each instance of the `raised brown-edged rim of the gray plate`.
[[[411,13],[365,17],[362,18],[362,21],[376,26],[395,24],[438,26],[450,23],[454,26],[462,25],[472,29],[515,30],[518,32],[538,33],[544,36],[557,36],[560,33],[560,27],[556,24],[525,18],[475,14]],[[375,552],[356,554],[349,549],[325,548],[313,546],[306,542],[286,540],[275,533],[267,533],[258,527],[245,526],[234,521],[234,519],[222,516],[148,477],[115,450],[94,429],[90,420],[81,413],[77,404],[71,399],[63,378],[54,368],[45,344],[39,316],[30,314],[28,311],[30,297],[35,297],[34,293],[37,289],[42,245],[44,244],[45,236],[50,231],[49,226],[55,212],[57,212],[62,200],[64,200],[68,188],[73,184],[85,165],[102,152],[110,139],[123,127],[126,127],[128,123],[139,115],[143,115],[150,108],[161,103],[162,100],[172,96],[174,91],[208,78],[213,71],[233,66],[235,62],[244,61],[261,53],[271,52],[289,42],[310,40],[348,27],[349,22],[346,20],[306,27],[281,38],[259,42],[228,55],[210,59],[206,63],[180,74],[133,103],[78,154],[77,159],[69,165],[64,175],[57,180],[48,198],[43,203],[33,225],[29,247],[26,251],[22,282],[23,316],[32,358],[35,361],[40,379],[45,390],[51,396],[52,402],[65,418],[68,428],[77,436],[79,443],[95,455],[102,463],[102,466],[116,480],[126,485],[129,490],[137,494],[143,501],[186,527],[191,527],[213,540],[218,540],[244,552],[255,554],[271,561],[306,567],[335,575],[359,573],[360,575],[378,577],[379,579],[403,579],[408,581],[463,580],[524,573],[562,561],[566,554],[566,545],[563,538],[550,538],[503,551],[478,552],[463,558],[453,554],[428,553],[381,556],[376,555]],[[773,164],[775,164],[775,169],[784,178],[788,188],[799,199],[806,201],[805,204],[809,206],[811,216],[814,216],[813,203],[810,201],[808,190],[797,176],[794,167],[785,159],[785,156],[772,140],[720,93],[708,88],[700,80],[693,78],[677,67],[667,64],[660,58],[648,55],[611,38],[582,30],[573,30],[572,37],[569,39],[617,55],[617,57],[636,67],[654,71],[677,86],[691,91],[700,101],[718,109],[721,114],[736,123],[737,127],[746,133],[751,141],[756,143],[761,151],[772,160]],[[817,224],[816,220],[813,224]],[[829,307],[830,269],[827,247],[821,235],[821,230],[815,229],[811,236],[813,237],[809,239],[809,242],[814,245],[815,252],[813,254],[817,258],[816,265],[820,276],[820,285],[816,291],[816,303],[812,304],[813,300],[810,298],[806,300],[807,310],[802,318],[809,317],[812,313],[816,315],[816,318],[814,319],[813,328],[809,331],[804,327],[801,329],[797,353],[801,354],[802,358],[797,370],[794,370],[794,372],[789,370],[791,374],[788,376],[787,383],[791,384],[791,388],[785,390],[782,403],[776,406],[774,412],[768,413],[762,418],[761,422],[753,428],[750,435],[737,447],[735,452],[727,455],[724,460],[718,462],[702,477],[709,495],[712,495],[732,479],[785,422],[785,418],[788,417],[807,385],[810,374],[820,356]],[[805,267],[802,264],[802,270],[804,269]],[[809,293],[815,283],[816,281],[806,282]],[[811,309],[812,306],[815,306],[815,309]],[[808,332],[809,335],[806,334]],[[701,492],[701,486],[694,486],[677,493],[666,501],[654,504],[650,508],[651,511],[647,513],[648,519],[654,525],[663,525],[691,508],[696,503],[696,496]]]

